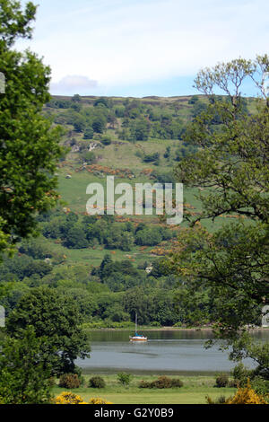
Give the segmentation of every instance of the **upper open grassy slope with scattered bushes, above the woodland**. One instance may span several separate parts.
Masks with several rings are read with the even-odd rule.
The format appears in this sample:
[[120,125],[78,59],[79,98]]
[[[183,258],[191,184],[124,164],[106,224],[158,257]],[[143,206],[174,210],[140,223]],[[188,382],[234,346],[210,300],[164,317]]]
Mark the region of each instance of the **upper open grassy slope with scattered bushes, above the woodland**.
[[[192,153],[191,147],[183,142],[184,131],[195,115],[203,110],[204,96],[75,97],[55,96],[44,110],[46,115],[65,127],[63,144],[69,152],[59,164],[58,180],[61,198],[69,209],[80,215],[86,212],[89,198],[86,188],[91,182],[103,184],[106,195],[108,175],[115,176],[116,184],[127,182],[133,187],[137,182],[176,182],[173,177],[175,166],[184,154]],[[105,105],[98,103],[100,100],[104,100]],[[246,106],[252,110],[253,101],[247,99]],[[82,124],[75,126],[79,117]],[[93,131],[91,139],[85,139],[87,129],[93,126],[92,121],[99,118],[105,120],[100,133]],[[74,125],[70,124],[71,121]],[[141,140],[132,133],[139,124],[147,124]],[[157,137],[158,130],[160,137]],[[104,138],[108,138],[109,145],[102,144]],[[86,153],[93,144],[92,157],[89,158]],[[158,159],[146,161],[146,157],[150,160],[153,154],[159,154]],[[185,207],[193,213],[201,211],[198,194],[199,189],[184,189]],[[160,223],[156,216],[129,218],[136,223],[139,220]],[[211,222],[204,224],[213,230]]]

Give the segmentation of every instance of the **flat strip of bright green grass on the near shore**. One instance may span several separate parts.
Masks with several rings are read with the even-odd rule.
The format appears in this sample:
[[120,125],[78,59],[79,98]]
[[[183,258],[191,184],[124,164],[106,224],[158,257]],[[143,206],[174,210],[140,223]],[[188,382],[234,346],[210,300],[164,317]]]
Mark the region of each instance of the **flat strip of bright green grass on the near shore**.
[[[89,402],[92,398],[101,397],[113,404],[206,404],[206,396],[210,396],[213,400],[220,396],[225,396],[228,399],[236,391],[236,388],[214,387],[215,375],[171,375],[172,378],[179,378],[184,384],[183,387],[144,389],[138,387],[141,380],[152,382],[160,374],[135,374],[128,387],[119,384],[117,374],[99,374],[105,380],[106,387],[102,389],[88,388],[89,380],[94,375],[97,374],[83,374],[84,385],[70,391],[81,396],[86,402]],[[56,386],[53,389],[53,394],[57,397],[63,391],[66,391],[66,389]]]

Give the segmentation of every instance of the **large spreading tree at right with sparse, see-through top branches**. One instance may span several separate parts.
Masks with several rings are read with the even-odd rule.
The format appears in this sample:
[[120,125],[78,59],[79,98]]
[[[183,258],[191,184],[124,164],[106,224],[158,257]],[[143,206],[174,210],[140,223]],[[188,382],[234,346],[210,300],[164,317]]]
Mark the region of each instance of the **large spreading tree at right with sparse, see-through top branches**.
[[[184,277],[192,301],[206,289],[222,338],[236,336],[246,324],[259,324],[261,308],[269,300],[269,108],[264,86],[268,70],[265,56],[234,60],[197,75],[196,87],[209,104],[185,135],[198,150],[177,169],[178,180],[203,189],[199,195],[203,212],[189,216],[192,228],[180,236],[169,267]],[[260,92],[251,115],[240,95],[247,78]],[[215,88],[224,91],[224,100],[214,95]],[[214,233],[199,225],[204,218],[222,215],[236,220]]]

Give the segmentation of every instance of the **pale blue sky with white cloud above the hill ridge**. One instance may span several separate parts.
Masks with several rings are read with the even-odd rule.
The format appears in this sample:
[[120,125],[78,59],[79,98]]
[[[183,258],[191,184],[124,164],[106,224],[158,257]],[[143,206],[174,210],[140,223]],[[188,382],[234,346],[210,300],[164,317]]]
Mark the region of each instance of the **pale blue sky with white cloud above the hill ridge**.
[[32,2],[33,38],[16,47],[51,67],[52,94],[192,95],[202,68],[269,53],[267,0]]

